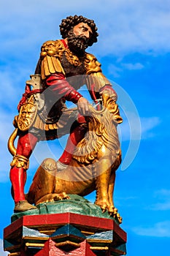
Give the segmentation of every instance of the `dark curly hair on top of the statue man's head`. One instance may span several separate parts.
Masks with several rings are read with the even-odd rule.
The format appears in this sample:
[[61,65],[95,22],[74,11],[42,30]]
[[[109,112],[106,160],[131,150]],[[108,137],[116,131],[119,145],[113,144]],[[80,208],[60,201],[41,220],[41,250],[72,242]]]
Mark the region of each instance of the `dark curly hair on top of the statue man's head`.
[[87,23],[88,26],[90,26],[90,29],[92,30],[93,34],[90,37],[89,41],[88,41],[88,45],[91,46],[93,45],[94,42],[97,42],[97,37],[98,37],[98,33],[97,31],[97,27],[96,24],[94,23],[94,20],[90,20],[88,18],[83,17],[82,15],[77,16],[68,16],[66,17],[66,19],[61,20],[61,25],[60,25],[60,31],[61,31],[61,36],[63,39],[65,39],[66,37],[68,37],[69,31],[76,26],[79,23]]

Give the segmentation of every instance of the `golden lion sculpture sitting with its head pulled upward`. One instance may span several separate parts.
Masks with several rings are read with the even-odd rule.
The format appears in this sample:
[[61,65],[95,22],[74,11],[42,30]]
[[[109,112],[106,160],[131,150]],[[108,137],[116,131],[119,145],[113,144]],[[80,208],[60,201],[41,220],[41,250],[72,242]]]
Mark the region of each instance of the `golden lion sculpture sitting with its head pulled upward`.
[[88,132],[78,143],[69,167],[58,171],[54,159],[45,159],[28,191],[29,203],[68,199],[68,194],[85,196],[96,190],[95,204],[112,216],[117,214],[113,203],[115,171],[121,162],[117,124],[123,120],[115,99],[108,94],[102,96],[101,110],[91,106],[90,111]]

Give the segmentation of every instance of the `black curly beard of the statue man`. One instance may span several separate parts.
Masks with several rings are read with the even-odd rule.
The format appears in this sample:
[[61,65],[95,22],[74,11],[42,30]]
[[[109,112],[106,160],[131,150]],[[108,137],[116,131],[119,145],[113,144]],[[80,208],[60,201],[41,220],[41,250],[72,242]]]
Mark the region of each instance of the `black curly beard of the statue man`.
[[88,39],[85,36],[76,36],[71,31],[67,37],[69,49],[77,56],[83,56],[88,48]]

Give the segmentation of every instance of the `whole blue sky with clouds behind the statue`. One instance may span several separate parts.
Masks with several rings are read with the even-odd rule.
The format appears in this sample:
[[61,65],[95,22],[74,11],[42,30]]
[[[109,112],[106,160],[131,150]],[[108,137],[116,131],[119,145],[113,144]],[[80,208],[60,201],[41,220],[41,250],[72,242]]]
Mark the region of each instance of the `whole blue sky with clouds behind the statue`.
[[[115,206],[123,217],[121,227],[128,233],[127,255],[167,255],[170,242],[170,3],[167,0],[1,2],[0,238],[3,228],[10,223],[14,206],[9,181],[12,157],[7,151],[12,120],[17,115],[25,82],[34,73],[42,43],[61,38],[58,28],[61,19],[74,14],[92,18],[98,26],[98,42],[88,51],[101,62],[104,75],[114,81],[125,120],[119,129],[126,167],[117,170]],[[26,191],[44,146],[45,143],[38,145],[30,159]],[[62,151],[58,142],[55,140],[48,147],[53,154],[57,149],[58,158]],[[46,151],[41,153],[40,158],[43,157]],[[90,200],[94,200],[93,195]],[[1,255],[7,255],[2,251]]]

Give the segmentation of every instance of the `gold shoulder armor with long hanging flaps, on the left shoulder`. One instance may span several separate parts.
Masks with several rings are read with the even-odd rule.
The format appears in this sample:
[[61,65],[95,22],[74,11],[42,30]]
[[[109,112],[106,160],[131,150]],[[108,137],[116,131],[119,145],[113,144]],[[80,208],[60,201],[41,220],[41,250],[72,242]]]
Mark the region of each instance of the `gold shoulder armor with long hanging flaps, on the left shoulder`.
[[54,74],[55,72],[61,72],[65,75],[60,61],[61,54],[63,53],[61,41],[47,41],[42,45],[41,50],[42,79],[45,79],[48,75]]

